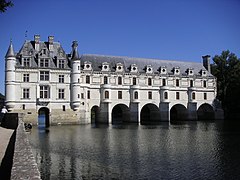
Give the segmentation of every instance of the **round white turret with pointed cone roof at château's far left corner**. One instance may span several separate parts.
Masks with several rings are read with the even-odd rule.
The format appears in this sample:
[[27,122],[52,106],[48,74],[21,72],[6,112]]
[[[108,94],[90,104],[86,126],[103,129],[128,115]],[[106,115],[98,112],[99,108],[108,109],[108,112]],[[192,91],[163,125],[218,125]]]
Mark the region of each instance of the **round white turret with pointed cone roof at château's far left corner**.
[[5,56],[5,104],[9,111],[12,111],[15,105],[15,66],[16,56],[11,40]]

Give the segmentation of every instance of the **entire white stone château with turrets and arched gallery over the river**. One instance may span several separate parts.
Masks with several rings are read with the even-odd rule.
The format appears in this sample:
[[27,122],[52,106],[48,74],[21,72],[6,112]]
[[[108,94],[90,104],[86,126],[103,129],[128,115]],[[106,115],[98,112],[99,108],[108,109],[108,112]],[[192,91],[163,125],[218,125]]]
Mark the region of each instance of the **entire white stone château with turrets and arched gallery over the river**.
[[66,54],[59,42],[35,35],[6,54],[6,105],[37,123],[148,122],[215,119],[216,79],[203,63]]

